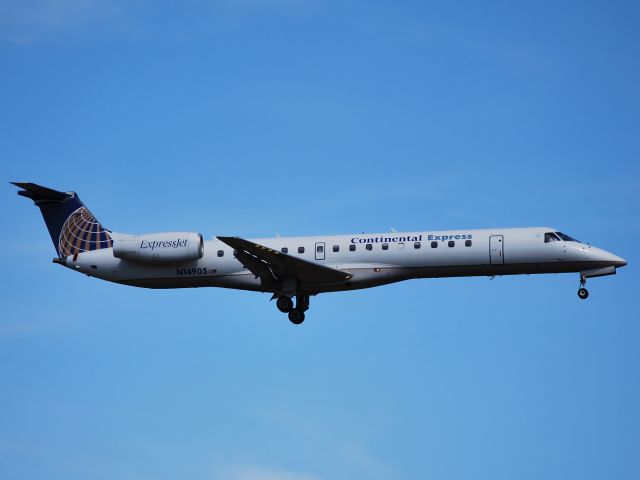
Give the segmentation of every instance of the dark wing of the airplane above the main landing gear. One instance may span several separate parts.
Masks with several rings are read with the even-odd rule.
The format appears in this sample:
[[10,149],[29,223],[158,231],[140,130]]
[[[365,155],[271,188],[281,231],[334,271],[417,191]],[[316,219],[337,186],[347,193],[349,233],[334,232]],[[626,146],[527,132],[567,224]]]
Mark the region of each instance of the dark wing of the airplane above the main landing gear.
[[287,255],[239,237],[218,237],[235,250],[235,257],[263,283],[295,278],[305,284],[339,283],[352,275],[335,268]]

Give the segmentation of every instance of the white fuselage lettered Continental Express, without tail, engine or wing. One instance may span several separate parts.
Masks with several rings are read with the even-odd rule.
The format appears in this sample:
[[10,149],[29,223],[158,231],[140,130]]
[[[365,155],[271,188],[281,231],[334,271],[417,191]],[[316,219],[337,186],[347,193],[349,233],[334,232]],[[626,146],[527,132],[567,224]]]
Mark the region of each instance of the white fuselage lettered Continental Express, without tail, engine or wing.
[[[349,272],[341,283],[301,286],[307,294],[351,290],[412,278],[601,271],[626,262],[577,241],[545,242],[553,228],[419,231],[252,239],[288,255]],[[117,241],[118,235],[113,234]],[[453,242],[453,243],[450,243]],[[225,287],[270,291],[215,239],[197,261],[148,265],[113,256],[112,248],[79,253],[59,263],[104,280],[147,288]],[[601,270],[598,270],[601,269]],[[607,270],[609,269],[609,270]],[[612,270],[612,271],[611,271]],[[595,276],[595,275],[594,275]]]

